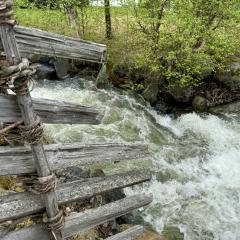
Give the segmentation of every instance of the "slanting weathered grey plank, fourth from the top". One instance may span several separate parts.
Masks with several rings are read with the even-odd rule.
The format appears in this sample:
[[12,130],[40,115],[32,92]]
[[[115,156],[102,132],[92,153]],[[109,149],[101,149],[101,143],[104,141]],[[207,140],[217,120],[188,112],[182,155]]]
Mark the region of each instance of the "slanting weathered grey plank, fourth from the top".
[[[59,185],[56,189],[57,201],[59,204],[74,202],[150,179],[149,171],[135,170],[102,178],[69,182]],[[43,202],[36,194],[27,192],[2,196],[0,197],[0,222],[25,217],[43,209]]]

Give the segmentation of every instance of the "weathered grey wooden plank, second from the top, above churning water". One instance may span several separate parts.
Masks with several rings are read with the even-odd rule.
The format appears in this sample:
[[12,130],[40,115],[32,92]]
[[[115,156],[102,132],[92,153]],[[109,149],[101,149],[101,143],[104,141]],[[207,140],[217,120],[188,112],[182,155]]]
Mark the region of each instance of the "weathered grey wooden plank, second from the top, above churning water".
[[[21,119],[15,95],[0,95],[0,103],[0,122]],[[48,99],[33,99],[33,108],[44,123],[99,124],[104,115],[99,108]]]

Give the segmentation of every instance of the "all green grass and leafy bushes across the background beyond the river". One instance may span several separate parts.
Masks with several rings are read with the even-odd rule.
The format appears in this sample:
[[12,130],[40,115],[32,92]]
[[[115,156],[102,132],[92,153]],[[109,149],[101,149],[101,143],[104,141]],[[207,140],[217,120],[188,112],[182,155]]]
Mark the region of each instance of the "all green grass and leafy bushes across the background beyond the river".
[[[237,0],[124,1],[111,7],[114,37],[110,40],[105,38],[101,3],[17,0],[16,18],[25,26],[105,43],[110,69],[116,63],[133,61],[158,72],[170,88],[200,84],[239,51]],[[62,7],[66,4],[77,9],[74,24]]]

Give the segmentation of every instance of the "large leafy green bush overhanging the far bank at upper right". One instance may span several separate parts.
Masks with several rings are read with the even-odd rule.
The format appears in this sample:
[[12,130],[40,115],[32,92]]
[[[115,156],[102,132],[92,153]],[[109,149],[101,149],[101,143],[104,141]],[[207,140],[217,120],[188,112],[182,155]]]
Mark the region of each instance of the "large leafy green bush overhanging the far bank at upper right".
[[138,60],[170,86],[199,84],[238,50],[239,9],[237,0],[141,1],[135,16],[146,47]]

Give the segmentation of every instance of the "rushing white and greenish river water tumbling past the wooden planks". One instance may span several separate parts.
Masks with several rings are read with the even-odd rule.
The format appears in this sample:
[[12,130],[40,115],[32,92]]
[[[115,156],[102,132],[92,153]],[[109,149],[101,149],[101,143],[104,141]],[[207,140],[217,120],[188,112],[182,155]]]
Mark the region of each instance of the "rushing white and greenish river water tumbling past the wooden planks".
[[240,116],[189,113],[175,119],[158,115],[142,99],[97,90],[81,79],[44,81],[32,95],[106,110],[97,126],[47,126],[56,142],[149,145],[149,161],[105,166],[105,171],[136,166],[154,171],[150,184],[126,193],[153,193],[153,203],[141,215],[159,233],[171,225],[179,227],[185,240],[240,240]]

